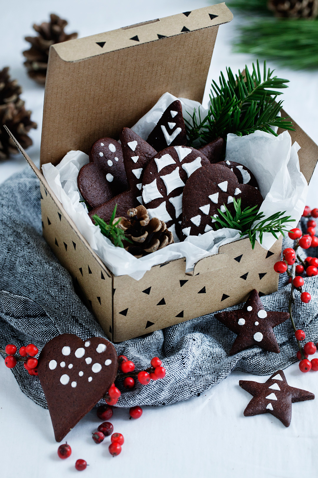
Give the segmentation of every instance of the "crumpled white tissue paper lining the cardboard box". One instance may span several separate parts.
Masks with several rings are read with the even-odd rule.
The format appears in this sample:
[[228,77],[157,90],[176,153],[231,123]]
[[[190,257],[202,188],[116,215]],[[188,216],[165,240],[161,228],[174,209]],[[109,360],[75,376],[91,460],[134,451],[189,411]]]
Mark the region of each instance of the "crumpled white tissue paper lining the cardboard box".
[[[198,113],[199,107],[201,118],[206,114],[207,110],[200,103],[165,93],[132,130],[146,140],[164,110],[176,99],[181,101],[183,115],[187,120],[191,120],[194,111],[195,114]],[[291,228],[296,227],[304,210],[308,187],[299,170],[298,149],[297,143],[291,146],[287,131],[277,138],[262,131],[243,137],[234,134],[227,136],[226,159],[248,167],[255,175],[260,192],[265,197],[260,211],[269,217],[274,212],[286,210],[286,215],[296,219]],[[136,259],[123,248],[115,247],[103,236],[100,228],[93,225],[85,204],[80,202],[82,196],[77,187],[77,175],[81,167],[88,162],[87,154],[70,151],[57,166],[51,163],[43,164],[42,172],[66,213],[114,275],[127,274],[139,280],[154,265],[182,257],[186,258],[186,272],[190,272],[197,261],[216,254],[220,246],[240,238],[240,231],[236,229],[212,230],[202,236],[188,236],[184,242],[170,244],[162,250]],[[262,246],[270,249],[275,240],[271,234],[265,234]]]

